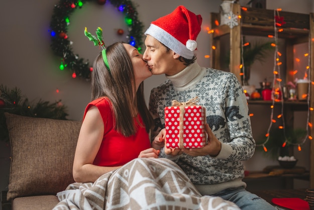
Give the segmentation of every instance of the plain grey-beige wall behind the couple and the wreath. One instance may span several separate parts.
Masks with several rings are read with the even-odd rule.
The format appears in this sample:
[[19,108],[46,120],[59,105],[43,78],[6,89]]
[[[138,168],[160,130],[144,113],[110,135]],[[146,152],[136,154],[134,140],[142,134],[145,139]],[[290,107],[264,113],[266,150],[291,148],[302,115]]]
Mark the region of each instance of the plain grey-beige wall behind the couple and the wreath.
[[[201,66],[210,67],[210,59],[205,58],[210,52],[210,40],[207,34],[207,27],[210,22],[210,13],[219,12],[221,0],[133,0],[138,12],[138,17],[148,28],[151,21],[171,13],[177,6],[184,5],[192,12],[203,17],[202,31],[198,37],[198,62]],[[242,0],[242,6],[248,6],[249,0]],[[3,1],[0,7],[0,84],[9,88],[19,87],[22,93],[30,101],[39,99],[56,101],[61,99],[68,107],[68,119],[81,120],[86,104],[90,100],[90,82],[82,78],[72,78],[71,72],[60,71],[60,58],[56,57],[50,49],[49,25],[53,8],[59,1]],[[283,11],[305,13],[314,11],[312,0],[267,0],[267,9],[281,8]],[[88,3],[82,9],[77,9],[70,17],[68,36],[73,41],[73,51],[80,57],[93,61],[98,54],[98,49],[93,47],[84,36],[83,30],[87,26],[93,32],[100,26],[106,29],[104,35],[107,44],[111,44],[120,37],[116,36],[116,29],[125,27],[123,18],[119,12],[113,10],[110,3],[99,6],[95,3]],[[126,31],[126,29],[124,30]],[[107,33],[108,32],[108,33]],[[126,33],[125,33],[126,35]],[[144,37],[143,37],[144,39]],[[307,46],[301,46],[306,50]],[[143,46],[144,48],[144,46]],[[272,64],[272,57],[270,57]],[[270,64],[270,65],[271,65]],[[253,68],[256,72],[265,71],[265,65],[257,64]],[[272,67],[271,67],[272,68]],[[261,75],[254,76],[252,71],[252,84],[259,86]],[[165,80],[164,75],[154,75],[145,81],[145,97],[148,101],[150,89]],[[56,89],[60,92],[56,93]],[[263,111],[260,111],[263,112]],[[297,119],[304,122],[306,113],[297,113]],[[268,116],[267,116],[268,117]],[[268,126],[269,119],[264,119]],[[257,123],[258,122],[258,123]],[[259,121],[252,119],[253,136],[258,133]],[[305,122],[306,123],[306,122]],[[300,124],[302,125],[302,124]],[[9,183],[10,168],[10,145],[0,142],[0,191],[5,190]],[[308,167],[309,151],[302,150],[301,165]],[[254,157],[245,163],[247,169],[261,170],[264,166],[276,164],[258,152]]]

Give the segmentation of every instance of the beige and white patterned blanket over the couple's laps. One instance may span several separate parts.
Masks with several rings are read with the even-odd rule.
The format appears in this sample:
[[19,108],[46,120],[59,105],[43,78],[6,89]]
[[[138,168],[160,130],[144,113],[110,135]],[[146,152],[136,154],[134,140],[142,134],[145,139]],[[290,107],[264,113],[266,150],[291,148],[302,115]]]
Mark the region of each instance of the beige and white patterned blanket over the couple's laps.
[[72,183],[57,193],[58,209],[239,209],[220,197],[202,196],[173,161],[137,158],[94,183]]

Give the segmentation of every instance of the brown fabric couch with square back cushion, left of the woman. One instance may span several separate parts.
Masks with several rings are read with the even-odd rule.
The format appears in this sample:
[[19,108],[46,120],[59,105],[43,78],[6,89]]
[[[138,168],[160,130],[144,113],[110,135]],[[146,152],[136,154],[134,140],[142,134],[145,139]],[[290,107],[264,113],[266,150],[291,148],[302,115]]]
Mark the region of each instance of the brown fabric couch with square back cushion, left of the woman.
[[81,122],[5,113],[11,143],[7,200],[12,209],[52,209],[57,192],[74,182],[73,158]]

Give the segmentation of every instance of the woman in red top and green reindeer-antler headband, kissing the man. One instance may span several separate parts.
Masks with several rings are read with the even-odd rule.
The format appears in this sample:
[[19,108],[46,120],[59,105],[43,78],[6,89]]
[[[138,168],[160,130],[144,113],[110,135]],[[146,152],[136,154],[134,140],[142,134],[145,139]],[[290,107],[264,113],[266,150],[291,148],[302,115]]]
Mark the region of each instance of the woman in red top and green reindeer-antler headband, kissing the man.
[[95,59],[92,101],[74,157],[76,182],[94,182],[137,157],[158,158],[160,151],[151,148],[148,137],[152,118],[143,97],[143,80],[151,75],[142,55],[129,44],[114,43]]

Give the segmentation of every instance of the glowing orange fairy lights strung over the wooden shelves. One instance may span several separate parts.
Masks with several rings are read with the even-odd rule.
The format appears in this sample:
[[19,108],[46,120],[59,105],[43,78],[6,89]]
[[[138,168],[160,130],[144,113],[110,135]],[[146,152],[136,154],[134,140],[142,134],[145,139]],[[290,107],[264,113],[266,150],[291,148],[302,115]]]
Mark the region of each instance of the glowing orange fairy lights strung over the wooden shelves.
[[[231,4],[231,11],[232,11],[232,7],[233,4]],[[242,11],[247,11],[247,8],[245,7],[241,7]],[[307,97],[307,119],[306,119],[306,136],[299,142],[293,143],[293,142],[289,142],[287,137],[286,137],[286,132],[285,132],[285,120],[284,120],[284,115],[283,115],[283,109],[284,109],[284,99],[283,96],[281,95],[282,91],[282,79],[281,79],[281,73],[280,73],[280,66],[282,64],[282,62],[280,61],[280,57],[281,57],[281,53],[278,50],[278,33],[281,33],[284,29],[281,28],[281,26],[284,24],[283,21],[283,17],[280,17],[279,12],[281,11],[281,9],[276,9],[274,10],[274,35],[268,35],[268,38],[273,38],[274,42],[271,44],[272,47],[274,47],[274,66],[273,66],[273,87],[272,87],[272,103],[270,106],[271,109],[271,113],[270,113],[270,123],[267,129],[267,133],[265,134],[266,140],[260,144],[256,144],[256,146],[259,147],[263,147],[263,150],[265,152],[267,152],[267,148],[266,148],[266,143],[270,140],[270,130],[273,127],[273,124],[277,122],[278,119],[281,119],[282,124],[280,126],[278,126],[278,129],[282,129],[283,130],[283,135],[284,135],[284,142],[282,144],[282,147],[285,147],[287,144],[291,145],[291,146],[297,146],[298,151],[301,151],[301,146],[304,145],[304,143],[306,142],[307,139],[312,140],[312,137],[309,135],[309,128],[312,127],[312,124],[310,122],[310,111],[313,111],[314,109],[310,107],[310,101],[309,101],[309,92],[310,92],[310,84],[314,84],[314,82],[310,82],[308,85],[308,90],[307,90],[307,94],[305,95],[305,97]],[[242,17],[241,15],[239,15],[238,17],[238,22],[240,22],[240,24],[242,25]],[[229,17],[229,19],[231,19],[231,17]],[[215,25],[219,26],[219,22],[217,20],[215,20]],[[241,28],[241,65],[239,66],[241,71],[240,71],[240,76],[244,79],[245,74],[243,73],[245,70],[245,66],[244,66],[244,58],[243,58],[243,46],[248,45],[249,43],[243,43],[243,35],[242,35],[242,27]],[[214,33],[214,29],[207,29],[208,34]],[[309,39],[308,39],[308,49],[310,49],[310,35],[309,35]],[[212,46],[212,49],[215,50],[216,46]],[[305,75],[307,78],[311,78],[310,77],[310,56],[309,53],[304,54],[304,57],[308,58],[308,65],[306,66],[306,72]],[[297,62],[300,61],[300,59],[296,58],[295,59]],[[295,75],[297,73],[297,70],[293,71],[293,75]],[[276,104],[276,102],[281,102],[281,114],[274,116],[274,107]],[[250,116],[253,116],[253,114],[251,114]]]

